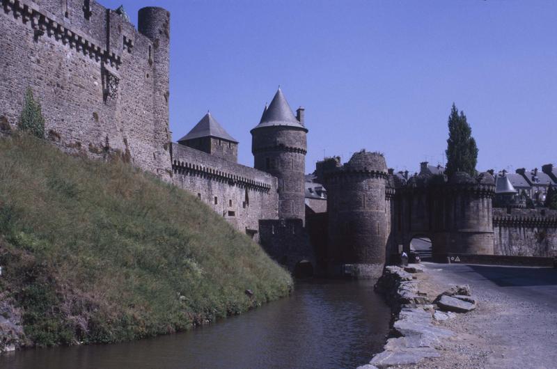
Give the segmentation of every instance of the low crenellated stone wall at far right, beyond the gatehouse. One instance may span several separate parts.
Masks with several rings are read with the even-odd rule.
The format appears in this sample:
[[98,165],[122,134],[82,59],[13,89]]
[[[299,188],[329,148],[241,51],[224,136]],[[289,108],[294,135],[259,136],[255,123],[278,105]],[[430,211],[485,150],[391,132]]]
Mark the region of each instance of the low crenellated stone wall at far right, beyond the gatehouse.
[[494,209],[494,253],[557,257],[557,211]]

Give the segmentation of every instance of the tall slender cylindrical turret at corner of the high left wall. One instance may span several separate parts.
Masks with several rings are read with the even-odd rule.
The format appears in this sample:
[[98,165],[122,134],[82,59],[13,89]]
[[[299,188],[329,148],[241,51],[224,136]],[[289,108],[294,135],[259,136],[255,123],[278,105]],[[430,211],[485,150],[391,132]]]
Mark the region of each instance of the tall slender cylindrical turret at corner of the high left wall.
[[[149,46],[148,61],[152,65],[153,80],[153,136],[161,142],[157,143],[157,151],[153,152],[155,160],[168,160],[168,98],[170,97],[170,13],[164,8],[147,7],[139,9],[139,32],[147,36]],[[164,173],[160,173],[164,174]]]

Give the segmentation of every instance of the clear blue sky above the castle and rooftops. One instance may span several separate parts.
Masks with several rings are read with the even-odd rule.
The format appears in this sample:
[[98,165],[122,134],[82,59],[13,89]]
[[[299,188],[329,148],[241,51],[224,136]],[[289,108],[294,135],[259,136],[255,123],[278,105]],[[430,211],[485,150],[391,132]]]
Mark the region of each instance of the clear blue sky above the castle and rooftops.
[[280,84],[306,108],[306,171],[366,148],[417,171],[443,161],[453,102],[478,169],[557,161],[557,1],[100,0],[171,12],[171,130],[207,109],[240,141]]

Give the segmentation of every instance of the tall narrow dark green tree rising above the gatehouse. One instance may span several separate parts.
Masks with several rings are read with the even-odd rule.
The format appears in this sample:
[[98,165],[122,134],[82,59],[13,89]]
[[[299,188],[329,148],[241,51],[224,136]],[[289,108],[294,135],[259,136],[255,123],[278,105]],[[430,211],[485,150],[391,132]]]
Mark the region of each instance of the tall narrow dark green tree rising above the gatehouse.
[[448,116],[448,139],[447,139],[447,167],[446,175],[450,177],[455,172],[466,172],[476,175],[476,163],[478,162],[478,147],[476,140],[472,137],[472,129],[464,111],[458,112],[455,103]]

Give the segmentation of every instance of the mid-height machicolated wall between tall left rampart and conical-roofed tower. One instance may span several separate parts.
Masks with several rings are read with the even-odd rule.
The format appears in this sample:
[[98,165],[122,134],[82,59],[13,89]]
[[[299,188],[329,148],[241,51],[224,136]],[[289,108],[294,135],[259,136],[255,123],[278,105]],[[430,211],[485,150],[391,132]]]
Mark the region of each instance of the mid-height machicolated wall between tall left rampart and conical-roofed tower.
[[[257,169],[172,143],[172,182],[259,240],[259,220],[278,219],[277,179]],[[215,200],[216,198],[216,200]]]

